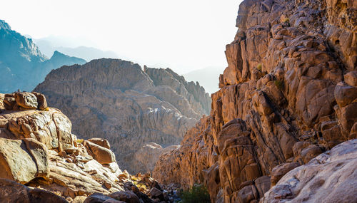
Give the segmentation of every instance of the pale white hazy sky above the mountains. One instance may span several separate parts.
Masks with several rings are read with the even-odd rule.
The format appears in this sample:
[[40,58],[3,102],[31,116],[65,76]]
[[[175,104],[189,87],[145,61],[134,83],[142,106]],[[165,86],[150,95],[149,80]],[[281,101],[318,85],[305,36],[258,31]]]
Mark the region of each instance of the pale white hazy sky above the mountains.
[[32,38],[64,36],[76,45],[178,73],[226,68],[240,0],[7,0],[0,19]]

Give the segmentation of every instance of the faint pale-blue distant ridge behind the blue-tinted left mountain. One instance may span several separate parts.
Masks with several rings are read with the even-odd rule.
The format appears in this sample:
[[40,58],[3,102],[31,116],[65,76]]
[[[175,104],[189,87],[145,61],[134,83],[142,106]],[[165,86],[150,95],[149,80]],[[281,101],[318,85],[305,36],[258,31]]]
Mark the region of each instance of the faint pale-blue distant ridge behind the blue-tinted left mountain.
[[66,47],[64,45],[57,45],[61,41],[57,42],[56,38],[40,38],[34,39],[34,41],[36,45],[39,46],[40,51],[46,56],[51,56],[54,51],[59,51],[68,56],[83,58],[86,61],[91,61],[98,58],[119,58],[119,56],[114,51],[101,51],[98,48],[87,46],[77,46],[72,48]]

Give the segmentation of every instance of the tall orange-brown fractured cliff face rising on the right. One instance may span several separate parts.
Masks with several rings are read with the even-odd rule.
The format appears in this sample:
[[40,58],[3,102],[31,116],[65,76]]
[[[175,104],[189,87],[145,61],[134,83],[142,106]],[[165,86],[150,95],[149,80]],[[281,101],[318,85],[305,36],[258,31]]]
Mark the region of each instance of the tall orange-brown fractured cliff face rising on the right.
[[237,26],[211,114],[154,170],[166,184],[206,184],[212,202],[261,199],[286,172],[357,135],[356,1],[246,0]]

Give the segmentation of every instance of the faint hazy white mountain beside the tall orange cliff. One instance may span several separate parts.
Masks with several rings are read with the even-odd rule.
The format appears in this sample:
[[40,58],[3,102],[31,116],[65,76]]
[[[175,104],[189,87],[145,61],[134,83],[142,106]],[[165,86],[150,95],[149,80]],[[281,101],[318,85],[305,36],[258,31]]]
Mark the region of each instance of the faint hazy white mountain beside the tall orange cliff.
[[197,81],[208,93],[215,93],[218,90],[219,75],[222,68],[208,67],[183,74],[188,81]]

